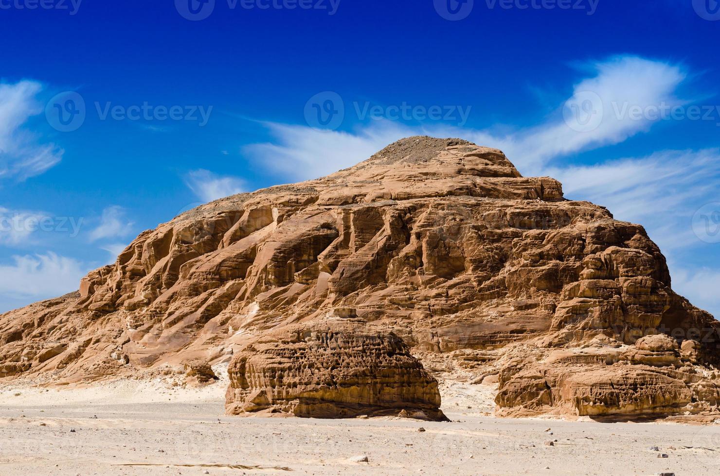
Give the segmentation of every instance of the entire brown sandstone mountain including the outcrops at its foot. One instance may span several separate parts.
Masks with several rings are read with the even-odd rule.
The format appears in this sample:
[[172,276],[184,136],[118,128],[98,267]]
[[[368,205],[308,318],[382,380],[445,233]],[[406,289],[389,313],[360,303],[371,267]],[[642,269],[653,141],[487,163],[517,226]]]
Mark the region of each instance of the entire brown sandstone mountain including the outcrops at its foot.
[[719,330],[642,226],[499,150],[410,137],[181,214],[78,293],[1,315],[0,377],[233,360],[232,413],[441,418],[423,362],[498,379],[508,416],[707,413]]

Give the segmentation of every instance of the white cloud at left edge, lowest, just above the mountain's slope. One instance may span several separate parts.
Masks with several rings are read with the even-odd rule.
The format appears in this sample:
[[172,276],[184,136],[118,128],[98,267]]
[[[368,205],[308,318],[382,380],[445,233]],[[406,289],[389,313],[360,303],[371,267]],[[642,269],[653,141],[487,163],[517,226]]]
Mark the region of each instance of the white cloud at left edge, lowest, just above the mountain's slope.
[[13,264],[0,265],[0,297],[3,301],[24,299],[30,303],[61,296],[78,289],[80,279],[88,271],[81,262],[53,252],[14,256],[12,260]]

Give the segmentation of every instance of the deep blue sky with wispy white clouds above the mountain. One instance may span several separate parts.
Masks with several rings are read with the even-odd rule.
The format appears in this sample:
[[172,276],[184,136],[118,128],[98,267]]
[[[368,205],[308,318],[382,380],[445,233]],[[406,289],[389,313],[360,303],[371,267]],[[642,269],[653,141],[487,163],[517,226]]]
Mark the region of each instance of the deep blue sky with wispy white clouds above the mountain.
[[718,7],[0,0],[0,311],[199,203],[430,134],[644,224],[719,316]]

